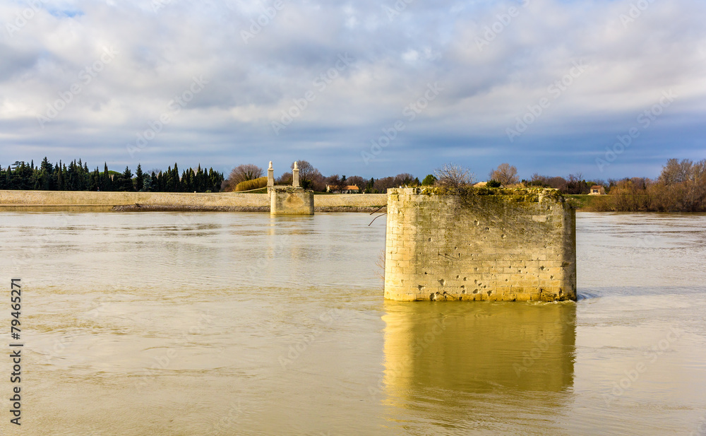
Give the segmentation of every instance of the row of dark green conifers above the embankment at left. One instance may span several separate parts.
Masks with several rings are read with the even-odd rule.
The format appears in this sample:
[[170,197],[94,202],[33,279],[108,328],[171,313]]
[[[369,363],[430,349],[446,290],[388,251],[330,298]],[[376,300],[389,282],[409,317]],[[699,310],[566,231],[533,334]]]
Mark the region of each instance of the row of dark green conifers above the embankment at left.
[[0,167],[0,189],[25,189],[42,191],[120,191],[120,192],[219,192],[224,180],[222,172],[213,168],[189,168],[179,174],[179,167],[166,171],[145,172],[138,163],[135,174],[126,166],[123,172],[98,167],[89,170],[88,164],[79,159],[66,163],[50,163],[45,157],[40,165],[16,161]]

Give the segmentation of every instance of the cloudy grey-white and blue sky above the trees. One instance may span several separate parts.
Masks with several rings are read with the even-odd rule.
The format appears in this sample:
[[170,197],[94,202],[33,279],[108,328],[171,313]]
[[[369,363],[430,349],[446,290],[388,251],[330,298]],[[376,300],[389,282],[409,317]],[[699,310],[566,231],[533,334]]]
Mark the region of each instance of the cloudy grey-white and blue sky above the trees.
[[5,0],[0,165],[608,179],[706,158],[703,0]]

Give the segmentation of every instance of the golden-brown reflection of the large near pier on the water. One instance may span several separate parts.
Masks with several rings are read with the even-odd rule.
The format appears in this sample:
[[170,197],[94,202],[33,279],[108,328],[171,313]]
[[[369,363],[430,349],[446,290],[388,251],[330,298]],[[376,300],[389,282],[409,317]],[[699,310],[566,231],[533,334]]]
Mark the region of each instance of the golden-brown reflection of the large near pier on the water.
[[[388,420],[488,431],[558,414],[573,391],[573,302],[385,302]],[[504,424],[485,420],[504,416]],[[499,413],[499,414],[496,414]],[[547,425],[549,425],[547,427]],[[555,425],[534,423],[554,433]]]

